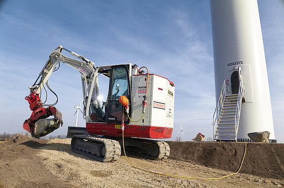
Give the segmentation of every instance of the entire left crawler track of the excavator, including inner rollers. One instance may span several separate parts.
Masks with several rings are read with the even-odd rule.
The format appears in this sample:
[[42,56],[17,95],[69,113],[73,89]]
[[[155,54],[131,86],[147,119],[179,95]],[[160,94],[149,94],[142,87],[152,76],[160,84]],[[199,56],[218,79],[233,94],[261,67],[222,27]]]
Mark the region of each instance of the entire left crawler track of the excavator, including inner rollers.
[[71,150],[101,162],[114,162],[121,154],[117,141],[89,135],[74,135]]

